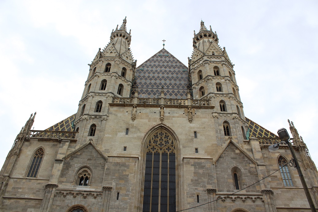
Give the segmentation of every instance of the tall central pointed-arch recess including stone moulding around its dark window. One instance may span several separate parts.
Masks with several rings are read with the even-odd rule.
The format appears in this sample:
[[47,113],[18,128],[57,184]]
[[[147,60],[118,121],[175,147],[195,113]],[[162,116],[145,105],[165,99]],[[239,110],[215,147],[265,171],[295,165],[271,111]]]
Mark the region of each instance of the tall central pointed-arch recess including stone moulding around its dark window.
[[[140,208],[142,208],[143,211],[149,211],[148,208],[151,206],[157,207],[155,211],[158,211],[159,207],[161,211],[167,211],[167,209],[169,209],[169,211],[176,211],[176,209],[179,208],[180,168],[178,164],[180,154],[178,146],[179,139],[176,133],[163,123],[151,128],[144,136],[141,159],[142,183],[140,190]],[[159,158],[159,161],[156,160],[157,158]],[[170,159],[172,160],[170,161]],[[175,169],[175,171],[173,169]],[[173,172],[175,174],[173,174]],[[161,175],[159,175],[159,173],[161,173]],[[157,184],[158,190],[154,187],[155,184],[152,185],[157,179],[158,183],[155,184]],[[156,197],[156,193],[153,193],[157,191],[158,197]],[[165,196],[166,194],[168,198]],[[165,198],[161,198],[161,196]],[[156,201],[156,199],[153,198],[158,198],[157,206],[153,205],[153,202]],[[150,199],[153,200],[152,205],[150,205]]]

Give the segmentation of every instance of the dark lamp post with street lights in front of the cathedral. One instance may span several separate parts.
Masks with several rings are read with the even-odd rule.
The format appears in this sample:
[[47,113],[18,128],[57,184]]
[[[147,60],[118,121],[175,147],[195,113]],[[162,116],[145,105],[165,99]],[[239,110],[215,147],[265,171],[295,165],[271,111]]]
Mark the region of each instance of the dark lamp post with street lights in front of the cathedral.
[[307,184],[306,184],[304,175],[303,175],[302,172],[301,172],[301,168],[300,168],[299,163],[298,163],[298,161],[297,161],[297,158],[296,158],[294,149],[293,149],[291,143],[289,142],[289,139],[290,139],[289,134],[288,134],[288,132],[287,132],[287,130],[286,130],[285,128],[279,129],[279,130],[277,131],[277,133],[278,133],[278,136],[279,136],[281,142],[269,146],[269,147],[268,147],[268,150],[272,152],[272,151],[275,151],[275,150],[277,150],[277,149],[279,148],[280,143],[285,142],[285,143],[287,144],[287,146],[288,146],[289,149],[290,149],[290,152],[292,153],[293,161],[294,161],[295,167],[296,167],[296,169],[297,169],[297,171],[298,171],[298,175],[299,175],[299,177],[300,177],[302,187],[303,187],[304,190],[305,190],[305,194],[306,194],[306,196],[307,196],[307,200],[308,200],[310,209],[311,209],[312,212],[315,212],[315,211],[316,211],[316,208],[315,208],[315,205],[314,205],[313,200],[311,199],[311,196],[310,196],[310,193],[309,193],[309,190],[308,190],[308,187],[307,187]]

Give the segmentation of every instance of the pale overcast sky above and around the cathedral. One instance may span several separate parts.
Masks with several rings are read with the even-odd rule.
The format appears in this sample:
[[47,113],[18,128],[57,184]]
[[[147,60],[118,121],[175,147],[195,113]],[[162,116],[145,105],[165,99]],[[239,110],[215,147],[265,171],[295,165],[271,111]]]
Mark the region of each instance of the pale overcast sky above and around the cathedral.
[[[318,165],[317,1],[0,0],[0,165],[31,113],[44,130],[77,112],[88,63],[127,16],[140,65],[165,48],[185,65],[201,19],[234,66],[245,116],[294,122]],[[187,65],[188,66],[188,65]]]

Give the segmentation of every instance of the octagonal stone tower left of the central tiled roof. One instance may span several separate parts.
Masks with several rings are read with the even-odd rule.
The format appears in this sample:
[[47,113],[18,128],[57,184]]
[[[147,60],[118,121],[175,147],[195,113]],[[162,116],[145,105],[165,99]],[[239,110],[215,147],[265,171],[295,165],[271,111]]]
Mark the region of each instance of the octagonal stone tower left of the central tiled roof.
[[[131,35],[127,32],[126,17],[110,35],[103,51],[98,50],[89,68],[85,88],[74,121],[75,131],[82,133],[80,140],[94,135],[98,142],[103,137],[100,129],[108,119],[108,103],[112,97],[129,97],[135,77],[136,61],[130,51]],[[81,129],[80,129],[81,128]],[[83,130],[84,129],[84,130]]]

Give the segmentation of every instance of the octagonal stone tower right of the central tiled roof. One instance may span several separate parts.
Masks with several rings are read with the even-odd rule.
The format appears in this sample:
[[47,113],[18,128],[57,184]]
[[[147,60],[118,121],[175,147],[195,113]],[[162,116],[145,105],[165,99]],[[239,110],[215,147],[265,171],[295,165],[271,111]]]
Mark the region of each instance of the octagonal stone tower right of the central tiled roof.
[[[236,84],[234,64],[225,47],[222,49],[218,45],[216,31],[213,32],[211,26],[210,30],[207,30],[203,21],[200,31],[197,34],[194,31],[192,57],[188,59],[193,99],[210,99],[216,108],[213,117],[220,118],[214,119],[215,124],[219,128],[232,126],[228,131],[225,129],[229,132],[227,135],[235,134],[239,140],[246,140],[248,129],[239,96],[239,86]],[[226,117],[232,119],[225,120]],[[222,132],[222,129],[220,130]]]

